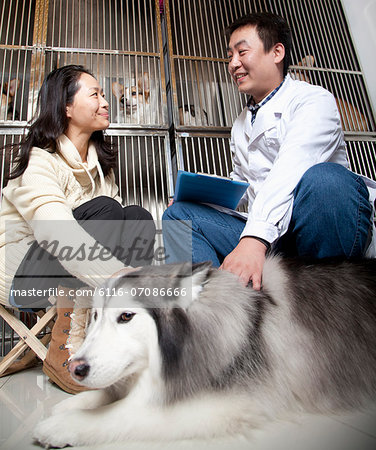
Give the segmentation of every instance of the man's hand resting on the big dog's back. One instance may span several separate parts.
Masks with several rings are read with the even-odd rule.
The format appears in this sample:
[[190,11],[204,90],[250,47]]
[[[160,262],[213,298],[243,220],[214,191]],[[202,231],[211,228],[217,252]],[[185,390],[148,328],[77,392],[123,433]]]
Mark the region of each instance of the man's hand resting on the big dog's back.
[[234,250],[226,256],[220,269],[238,275],[244,286],[252,281],[253,289],[259,291],[266,250],[266,246],[257,239],[244,237]]

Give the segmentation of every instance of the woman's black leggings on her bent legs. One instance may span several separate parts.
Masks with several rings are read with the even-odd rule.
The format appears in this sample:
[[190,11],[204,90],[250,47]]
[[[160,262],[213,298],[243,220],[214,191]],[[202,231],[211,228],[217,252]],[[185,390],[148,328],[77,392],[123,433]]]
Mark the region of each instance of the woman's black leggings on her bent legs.
[[[154,256],[155,224],[151,214],[136,205],[123,207],[110,197],[97,197],[73,210],[77,222],[125,266],[144,266]],[[58,259],[34,242],[13,279],[11,303],[20,308],[43,308],[58,286],[85,286]],[[28,295],[25,295],[25,292]],[[31,294],[35,295],[31,295]],[[13,294],[13,295],[12,295]]]

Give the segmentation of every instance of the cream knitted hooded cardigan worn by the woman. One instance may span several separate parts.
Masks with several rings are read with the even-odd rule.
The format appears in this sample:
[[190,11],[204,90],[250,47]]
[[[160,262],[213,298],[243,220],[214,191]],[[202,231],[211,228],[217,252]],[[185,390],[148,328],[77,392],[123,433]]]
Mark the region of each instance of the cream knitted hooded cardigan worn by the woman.
[[[77,223],[72,210],[83,203],[105,195],[121,203],[114,173],[103,176],[94,145],[89,146],[87,163],[73,143],[62,135],[59,151],[50,153],[34,147],[25,172],[10,180],[3,190],[0,211],[0,303],[8,304],[13,277],[30,245],[54,242],[54,253],[72,249],[72,259],[60,259],[72,275],[92,287],[124,267]],[[56,247],[57,243],[57,247]],[[82,258],[82,245],[96,246],[106,258]],[[51,247],[52,248],[52,247]],[[63,249],[63,250],[62,250]],[[59,253],[60,252],[60,253]],[[87,254],[88,252],[86,252]],[[96,253],[97,254],[97,253]]]

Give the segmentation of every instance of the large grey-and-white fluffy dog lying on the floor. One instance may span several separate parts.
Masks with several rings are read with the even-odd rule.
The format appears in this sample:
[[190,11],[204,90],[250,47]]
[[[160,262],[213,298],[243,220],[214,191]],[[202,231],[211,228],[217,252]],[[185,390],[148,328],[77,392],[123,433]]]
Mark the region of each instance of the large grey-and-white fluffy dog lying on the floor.
[[37,425],[45,445],[210,438],[376,394],[376,260],[268,257],[263,288],[209,263],[144,267],[94,298],[73,378],[96,390]]

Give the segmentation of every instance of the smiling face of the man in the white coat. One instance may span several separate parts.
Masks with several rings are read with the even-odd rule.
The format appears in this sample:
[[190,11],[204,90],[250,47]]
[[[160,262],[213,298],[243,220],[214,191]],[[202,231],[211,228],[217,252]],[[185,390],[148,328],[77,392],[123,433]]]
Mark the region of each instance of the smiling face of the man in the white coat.
[[276,44],[265,52],[255,26],[245,25],[236,29],[230,37],[227,52],[228,70],[239,91],[252,95],[256,103],[283,80],[281,65],[278,64],[283,60],[283,45]]

